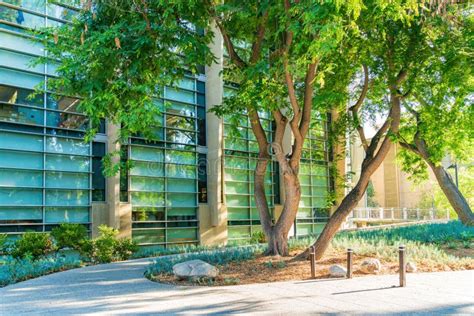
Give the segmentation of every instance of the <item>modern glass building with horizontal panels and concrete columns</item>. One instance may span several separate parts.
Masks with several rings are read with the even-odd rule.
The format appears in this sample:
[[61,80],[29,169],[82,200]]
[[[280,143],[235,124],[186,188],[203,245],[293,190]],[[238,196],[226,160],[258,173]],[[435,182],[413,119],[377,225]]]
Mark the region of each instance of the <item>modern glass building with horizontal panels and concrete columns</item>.
[[[46,52],[27,32],[68,23],[74,14],[73,7],[46,0],[0,1],[0,233],[46,232],[72,222],[92,235],[107,224],[150,247],[248,241],[260,229],[252,195],[257,144],[245,114],[235,137],[226,118],[207,112],[232,93],[221,77],[222,39],[212,44],[220,62],[161,91],[156,106],[163,115],[151,127],[153,141],[135,135],[118,148],[118,127],[102,122],[85,143],[90,123],[78,110],[80,100],[48,90],[55,65],[31,66]],[[47,93],[33,95],[38,85]],[[271,139],[272,120],[261,116]],[[318,233],[329,214],[326,134],[321,117],[305,145],[293,235]],[[105,178],[101,159],[117,149],[133,168]],[[277,217],[284,196],[278,163],[267,172]]]

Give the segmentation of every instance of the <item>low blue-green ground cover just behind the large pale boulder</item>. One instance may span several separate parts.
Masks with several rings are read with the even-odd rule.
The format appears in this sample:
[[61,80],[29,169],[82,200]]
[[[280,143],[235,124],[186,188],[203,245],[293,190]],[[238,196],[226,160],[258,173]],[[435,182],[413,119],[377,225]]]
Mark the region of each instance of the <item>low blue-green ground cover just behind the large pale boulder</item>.
[[160,257],[153,260],[152,264],[146,269],[145,276],[150,278],[157,274],[172,273],[175,264],[189,260],[199,259],[209,264],[223,265],[229,262],[253,259],[256,254],[262,251],[263,248],[260,246],[246,246]]

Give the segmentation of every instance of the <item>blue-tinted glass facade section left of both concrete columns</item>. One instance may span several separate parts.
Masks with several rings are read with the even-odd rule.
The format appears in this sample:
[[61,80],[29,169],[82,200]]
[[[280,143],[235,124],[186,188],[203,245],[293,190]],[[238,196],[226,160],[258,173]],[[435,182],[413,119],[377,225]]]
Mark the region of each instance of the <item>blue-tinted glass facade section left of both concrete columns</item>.
[[[54,65],[28,28],[65,23],[68,8],[45,1],[0,2],[0,232],[48,231],[61,222],[89,226],[92,146],[80,100],[48,91]],[[32,95],[44,82],[47,93]]]

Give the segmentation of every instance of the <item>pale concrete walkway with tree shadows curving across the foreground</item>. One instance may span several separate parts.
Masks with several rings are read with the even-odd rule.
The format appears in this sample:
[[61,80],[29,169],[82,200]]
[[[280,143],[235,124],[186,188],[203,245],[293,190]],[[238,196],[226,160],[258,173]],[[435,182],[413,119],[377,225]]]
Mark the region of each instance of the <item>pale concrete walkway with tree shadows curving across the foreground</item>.
[[474,271],[228,287],[174,287],[143,277],[149,259],[52,274],[0,289],[0,315],[474,314]]

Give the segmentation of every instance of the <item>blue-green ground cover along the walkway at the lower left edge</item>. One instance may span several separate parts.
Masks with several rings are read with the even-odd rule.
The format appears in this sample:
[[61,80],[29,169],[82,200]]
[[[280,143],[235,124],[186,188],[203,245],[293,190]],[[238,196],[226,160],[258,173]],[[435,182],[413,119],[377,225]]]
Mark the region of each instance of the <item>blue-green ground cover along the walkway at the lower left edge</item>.
[[36,278],[49,273],[80,267],[82,262],[77,256],[54,255],[38,260],[31,257],[9,258],[0,265],[0,286]]

